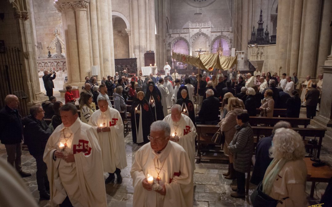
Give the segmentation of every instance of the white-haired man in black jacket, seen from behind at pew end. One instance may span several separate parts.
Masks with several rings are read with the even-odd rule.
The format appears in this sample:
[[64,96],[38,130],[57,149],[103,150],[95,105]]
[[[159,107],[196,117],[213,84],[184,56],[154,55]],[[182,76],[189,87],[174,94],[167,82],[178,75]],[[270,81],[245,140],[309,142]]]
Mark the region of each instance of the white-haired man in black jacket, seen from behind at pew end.
[[196,117],[196,124],[217,125],[219,122],[219,99],[214,97],[214,92],[211,89],[207,89],[206,96],[198,117]]

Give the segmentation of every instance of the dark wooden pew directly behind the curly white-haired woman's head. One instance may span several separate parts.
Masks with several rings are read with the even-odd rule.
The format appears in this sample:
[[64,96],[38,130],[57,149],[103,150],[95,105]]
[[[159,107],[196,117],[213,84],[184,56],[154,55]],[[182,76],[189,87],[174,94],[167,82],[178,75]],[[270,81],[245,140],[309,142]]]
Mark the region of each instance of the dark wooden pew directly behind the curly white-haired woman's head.
[[[297,131],[304,141],[304,145],[309,148],[317,149],[317,158],[319,158],[320,150],[322,147],[323,137],[325,136],[326,129],[318,129],[318,128],[292,128],[294,131]],[[259,141],[259,137],[261,135],[270,136],[272,134],[273,127],[252,127],[254,135],[257,135],[256,140],[254,142]],[[308,139],[306,137],[319,137],[317,144],[309,144]]]

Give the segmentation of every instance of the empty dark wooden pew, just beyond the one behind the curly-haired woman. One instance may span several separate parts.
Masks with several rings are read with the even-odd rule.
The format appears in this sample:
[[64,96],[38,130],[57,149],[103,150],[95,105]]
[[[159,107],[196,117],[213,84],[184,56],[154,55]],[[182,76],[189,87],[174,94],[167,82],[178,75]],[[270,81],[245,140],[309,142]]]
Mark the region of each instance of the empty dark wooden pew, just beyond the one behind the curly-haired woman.
[[303,125],[304,128],[310,124],[310,119],[308,118],[289,118],[289,117],[250,117],[249,124],[254,126],[256,124],[267,124],[275,125],[279,121],[289,122],[292,126],[294,125]]

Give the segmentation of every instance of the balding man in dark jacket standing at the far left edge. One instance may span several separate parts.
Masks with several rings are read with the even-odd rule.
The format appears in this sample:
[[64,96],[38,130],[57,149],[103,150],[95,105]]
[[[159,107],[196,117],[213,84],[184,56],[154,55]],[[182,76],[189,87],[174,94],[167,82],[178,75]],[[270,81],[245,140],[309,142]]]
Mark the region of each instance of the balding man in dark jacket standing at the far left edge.
[[[6,106],[0,110],[0,138],[6,147],[7,162],[14,166],[17,172],[24,178],[31,176],[22,171],[21,155],[23,140],[22,116],[18,112],[19,99],[15,95],[7,95]],[[14,165],[15,163],[15,165]]]

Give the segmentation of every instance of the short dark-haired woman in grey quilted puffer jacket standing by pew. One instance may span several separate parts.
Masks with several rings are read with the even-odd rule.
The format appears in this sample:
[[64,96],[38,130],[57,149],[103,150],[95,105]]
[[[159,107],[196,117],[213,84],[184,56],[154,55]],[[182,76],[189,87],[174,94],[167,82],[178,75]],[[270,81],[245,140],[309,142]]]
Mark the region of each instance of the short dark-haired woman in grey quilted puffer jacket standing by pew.
[[233,153],[233,167],[237,181],[237,188],[232,188],[233,198],[245,198],[245,172],[250,168],[252,153],[254,150],[254,134],[249,124],[249,114],[240,112],[236,117],[236,133],[228,146]]

